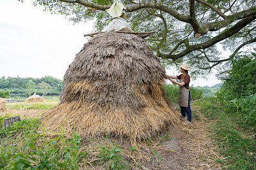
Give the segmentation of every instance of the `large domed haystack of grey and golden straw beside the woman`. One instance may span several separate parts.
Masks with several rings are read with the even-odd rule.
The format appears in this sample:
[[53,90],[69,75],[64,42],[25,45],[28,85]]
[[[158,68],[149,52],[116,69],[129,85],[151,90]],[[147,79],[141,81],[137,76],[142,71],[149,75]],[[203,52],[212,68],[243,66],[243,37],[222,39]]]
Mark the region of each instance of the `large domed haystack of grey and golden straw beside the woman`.
[[162,83],[164,67],[140,36],[106,32],[84,44],[63,80],[60,103],[40,120],[49,134],[137,140],[179,122]]

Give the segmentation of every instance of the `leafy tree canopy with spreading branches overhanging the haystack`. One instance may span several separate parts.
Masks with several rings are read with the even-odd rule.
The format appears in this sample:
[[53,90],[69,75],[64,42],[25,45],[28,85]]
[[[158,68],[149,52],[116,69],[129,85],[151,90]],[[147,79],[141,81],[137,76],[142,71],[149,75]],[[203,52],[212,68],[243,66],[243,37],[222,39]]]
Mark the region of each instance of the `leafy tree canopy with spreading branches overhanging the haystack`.
[[[22,1],[22,0],[19,0]],[[112,19],[105,10],[113,1],[34,0],[45,10],[74,22],[95,20],[101,31]],[[145,38],[167,66],[186,62],[195,74],[220,67],[256,41],[256,0],[123,0],[133,31],[157,31]],[[217,45],[233,55],[221,56]]]

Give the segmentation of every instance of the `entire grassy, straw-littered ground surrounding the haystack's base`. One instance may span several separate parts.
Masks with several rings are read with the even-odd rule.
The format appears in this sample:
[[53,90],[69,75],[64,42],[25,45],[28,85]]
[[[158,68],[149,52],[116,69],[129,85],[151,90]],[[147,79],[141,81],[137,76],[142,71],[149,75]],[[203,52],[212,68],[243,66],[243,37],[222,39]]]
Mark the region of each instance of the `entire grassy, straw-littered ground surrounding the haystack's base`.
[[[193,110],[193,126],[209,124],[209,129],[204,134],[207,136],[209,131],[211,134],[209,141],[200,143],[201,138],[198,133],[203,135],[200,128],[179,127],[184,128],[182,133],[170,131],[156,138],[148,138],[146,143],[136,146],[120,143],[108,136],[99,139],[85,138],[75,133],[71,138],[61,134],[45,136],[44,131],[40,129],[38,118],[45,110],[51,109],[57,103],[58,101],[45,101],[7,104],[8,111],[0,113],[0,124],[3,124],[4,118],[16,115],[19,115],[22,121],[15,122],[8,129],[0,130],[0,169],[143,169],[145,166],[159,167],[166,164],[169,164],[170,168],[173,162],[168,160],[177,160],[178,169],[184,169],[186,164],[190,169],[256,168],[253,129],[241,129],[237,122],[239,120],[233,119],[232,113],[224,114],[223,106],[220,106],[214,97],[207,97],[191,104],[199,111]],[[204,120],[201,113],[206,117]],[[186,137],[187,131],[193,132],[195,136]],[[164,149],[166,143],[173,141],[177,141],[182,149]],[[189,145],[184,145],[185,143]],[[209,143],[212,144],[208,145]],[[188,146],[197,147],[189,149],[186,148]],[[212,150],[209,147],[218,148],[218,152],[214,154],[220,155],[209,155],[207,150]],[[195,156],[193,150],[199,154]],[[193,165],[186,162],[188,161],[186,157],[189,155],[193,156],[191,160],[198,161],[197,166],[196,163]],[[183,160],[180,162],[179,159]],[[219,164],[220,166],[216,166]]]

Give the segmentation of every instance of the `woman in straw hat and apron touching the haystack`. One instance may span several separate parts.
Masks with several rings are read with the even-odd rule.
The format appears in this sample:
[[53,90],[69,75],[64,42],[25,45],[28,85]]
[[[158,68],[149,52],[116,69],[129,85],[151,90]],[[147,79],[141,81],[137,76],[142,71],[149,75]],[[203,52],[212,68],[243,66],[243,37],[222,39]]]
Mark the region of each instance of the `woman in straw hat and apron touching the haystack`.
[[[189,91],[189,82],[190,82],[190,76],[188,74],[189,68],[187,64],[182,64],[180,67],[180,74],[179,76],[170,76],[166,74],[166,77],[172,81],[172,83],[175,83],[179,85],[179,106],[180,106],[180,112],[181,116],[179,118],[184,119],[186,118],[186,115],[188,117],[188,122],[184,123],[185,125],[191,124],[191,108],[189,105],[190,102],[190,91]],[[179,79],[179,82],[172,80],[172,79]]]

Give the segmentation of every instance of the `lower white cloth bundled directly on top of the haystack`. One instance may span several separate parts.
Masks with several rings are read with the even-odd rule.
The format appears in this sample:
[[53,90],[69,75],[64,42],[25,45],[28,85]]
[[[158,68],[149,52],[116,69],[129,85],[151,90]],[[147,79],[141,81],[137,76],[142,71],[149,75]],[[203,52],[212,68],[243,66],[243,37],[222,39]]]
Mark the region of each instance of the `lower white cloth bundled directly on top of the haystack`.
[[131,29],[124,18],[118,17],[114,18],[111,22],[109,22],[109,24],[106,27],[104,27],[104,29],[102,29],[102,32],[120,31],[125,27]]

